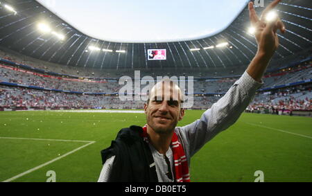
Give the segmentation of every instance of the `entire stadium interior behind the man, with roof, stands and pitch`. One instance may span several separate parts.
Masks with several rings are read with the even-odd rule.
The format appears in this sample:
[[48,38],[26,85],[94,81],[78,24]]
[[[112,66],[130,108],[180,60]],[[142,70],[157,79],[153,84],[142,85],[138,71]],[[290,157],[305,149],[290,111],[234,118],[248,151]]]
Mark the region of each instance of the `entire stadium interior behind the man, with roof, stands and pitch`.
[[[159,76],[193,84],[177,126],[196,121],[257,53],[248,1],[240,3],[212,34],[148,42],[96,38],[44,1],[0,0],[0,181],[98,181],[101,150],[123,127],[146,124],[146,100],[135,96]],[[276,12],[286,33],[263,85],[239,120],[192,157],[191,181],[252,182],[257,171],[262,181],[312,181],[312,4],[283,0]],[[125,83],[140,91],[124,91]]]

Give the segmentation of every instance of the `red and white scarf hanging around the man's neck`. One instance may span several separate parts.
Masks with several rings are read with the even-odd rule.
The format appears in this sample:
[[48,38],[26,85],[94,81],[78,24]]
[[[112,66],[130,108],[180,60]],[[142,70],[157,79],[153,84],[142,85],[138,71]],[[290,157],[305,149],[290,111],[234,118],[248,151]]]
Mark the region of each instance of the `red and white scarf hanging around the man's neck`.
[[[142,137],[148,143],[148,134],[146,125],[143,127]],[[171,148],[173,150],[173,160],[175,161],[175,181],[189,182],[189,166],[187,165],[187,157],[182,147],[182,144],[177,139],[177,134],[173,132],[171,139]]]

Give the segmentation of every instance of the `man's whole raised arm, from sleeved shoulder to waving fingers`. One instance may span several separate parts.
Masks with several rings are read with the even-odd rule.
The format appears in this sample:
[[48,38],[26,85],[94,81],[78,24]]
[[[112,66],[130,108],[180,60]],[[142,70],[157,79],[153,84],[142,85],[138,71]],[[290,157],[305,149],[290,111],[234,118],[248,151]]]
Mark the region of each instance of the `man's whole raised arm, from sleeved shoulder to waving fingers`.
[[279,45],[277,29],[281,30],[282,33],[285,32],[284,24],[278,17],[274,21],[265,21],[266,14],[275,8],[279,1],[272,1],[263,10],[261,19],[257,17],[253,3],[249,3],[250,21],[252,26],[256,28],[257,54],[245,73],[232,85],[223,98],[220,98],[210,109],[207,109],[200,119],[181,127],[177,131],[182,139],[184,150],[189,155],[188,157],[193,156],[202,145],[205,145],[216,134],[235,123],[252,100],[254,93],[261,86],[263,73]]

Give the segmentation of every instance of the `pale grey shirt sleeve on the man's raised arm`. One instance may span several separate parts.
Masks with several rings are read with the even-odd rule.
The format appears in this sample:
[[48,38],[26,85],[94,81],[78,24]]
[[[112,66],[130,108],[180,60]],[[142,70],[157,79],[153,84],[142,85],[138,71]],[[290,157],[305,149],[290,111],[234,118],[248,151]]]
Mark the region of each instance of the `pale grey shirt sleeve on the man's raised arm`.
[[262,84],[245,71],[227,93],[202,114],[200,119],[184,127],[177,127],[176,133],[181,139],[188,159],[216,134],[237,121]]

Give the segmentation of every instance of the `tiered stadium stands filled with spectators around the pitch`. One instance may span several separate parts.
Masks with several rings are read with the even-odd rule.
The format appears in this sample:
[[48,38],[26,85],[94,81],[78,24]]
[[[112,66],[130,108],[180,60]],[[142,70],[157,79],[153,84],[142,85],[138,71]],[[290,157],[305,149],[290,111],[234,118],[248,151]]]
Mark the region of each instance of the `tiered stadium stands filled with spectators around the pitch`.
[[[1,52],[0,64],[0,109],[142,109],[144,101],[119,100],[121,85],[119,74],[75,75],[72,69],[54,69],[49,65],[33,66],[40,62],[20,61],[16,55]],[[306,57],[302,57],[305,58]],[[60,73],[56,73],[60,71]],[[272,69],[271,69],[272,70]],[[132,71],[134,74],[134,71]],[[81,72],[88,75],[87,72]],[[140,77],[150,74],[141,71]],[[194,72],[194,104],[191,109],[207,109],[211,107],[241,75],[241,70],[232,70],[218,74],[217,72]],[[247,112],[293,114],[293,111],[311,111],[311,60],[297,62],[281,69],[267,71],[263,77],[263,87],[254,101],[246,109]],[[69,75],[72,74],[72,75]],[[159,73],[153,72],[153,78]],[[167,75],[187,75],[184,70]],[[129,74],[128,74],[129,75]],[[160,75],[160,74],[159,74]],[[190,75],[190,73],[188,73]],[[216,76],[218,75],[218,76]],[[221,76],[220,76],[221,75]],[[96,76],[108,76],[96,78]],[[133,75],[132,75],[133,76]],[[110,78],[114,77],[114,78]],[[207,85],[208,84],[208,85]],[[291,86],[291,87],[289,87]],[[142,85],[141,88],[144,86]],[[310,114],[309,114],[310,115]]]

